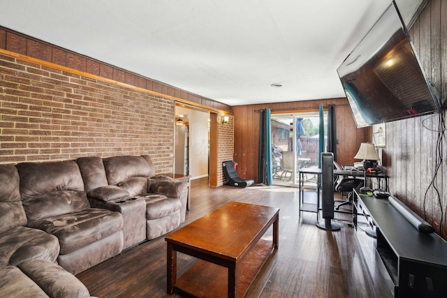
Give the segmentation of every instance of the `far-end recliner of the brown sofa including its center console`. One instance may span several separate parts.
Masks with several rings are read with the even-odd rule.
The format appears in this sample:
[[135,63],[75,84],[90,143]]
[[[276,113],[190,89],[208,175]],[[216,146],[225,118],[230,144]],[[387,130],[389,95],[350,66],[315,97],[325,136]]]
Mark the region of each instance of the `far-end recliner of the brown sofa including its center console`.
[[77,163],[91,204],[122,212],[124,248],[160,237],[184,221],[189,185],[154,177],[149,156],[91,156]]

